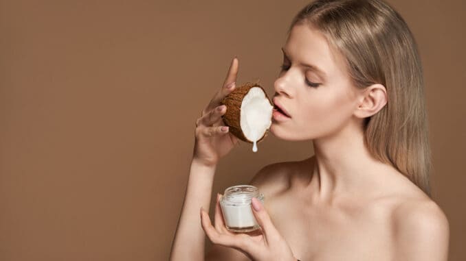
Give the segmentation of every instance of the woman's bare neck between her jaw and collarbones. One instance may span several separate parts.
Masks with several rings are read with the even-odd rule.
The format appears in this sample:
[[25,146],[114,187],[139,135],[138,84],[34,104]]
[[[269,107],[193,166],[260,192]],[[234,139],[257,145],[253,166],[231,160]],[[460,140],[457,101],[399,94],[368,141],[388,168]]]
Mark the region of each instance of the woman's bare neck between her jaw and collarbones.
[[309,188],[314,199],[331,202],[340,195],[367,192],[390,166],[375,160],[364,145],[364,132],[347,125],[334,136],[313,140],[315,160]]

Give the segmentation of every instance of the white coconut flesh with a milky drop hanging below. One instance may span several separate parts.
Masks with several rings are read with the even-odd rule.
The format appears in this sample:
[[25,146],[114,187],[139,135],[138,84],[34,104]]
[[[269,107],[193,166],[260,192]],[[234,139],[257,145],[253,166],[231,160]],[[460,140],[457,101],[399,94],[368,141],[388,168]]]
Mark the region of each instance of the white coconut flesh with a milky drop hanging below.
[[240,125],[244,136],[254,143],[252,151],[257,151],[257,140],[264,136],[271,125],[274,110],[259,87],[250,88],[241,102]]

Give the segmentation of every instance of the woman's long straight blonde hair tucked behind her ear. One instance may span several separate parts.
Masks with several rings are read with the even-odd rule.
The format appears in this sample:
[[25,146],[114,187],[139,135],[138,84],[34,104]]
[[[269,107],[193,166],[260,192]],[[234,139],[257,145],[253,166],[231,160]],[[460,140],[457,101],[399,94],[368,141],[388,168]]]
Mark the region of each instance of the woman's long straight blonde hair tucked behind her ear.
[[423,70],[403,18],[380,0],[317,0],[293,18],[288,34],[298,24],[318,29],[344,55],[357,88],[386,87],[387,104],[364,121],[366,146],[430,196]]

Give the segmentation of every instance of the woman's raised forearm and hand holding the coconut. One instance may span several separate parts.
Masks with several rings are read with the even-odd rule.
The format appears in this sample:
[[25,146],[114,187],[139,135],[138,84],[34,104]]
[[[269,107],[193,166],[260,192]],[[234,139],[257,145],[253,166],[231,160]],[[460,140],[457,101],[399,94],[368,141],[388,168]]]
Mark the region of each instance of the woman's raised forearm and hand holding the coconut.
[[170,260],[204,260],[206,236],[200,225],[201,207],[209,210],[215,169],[221,158],[239,143],[221,117],[227,108],[221,101],[236,88],[238,59],[233,58],[221,88],[217,90],[201,118],[196,120],[195,146],[181,216],[170,252]]

